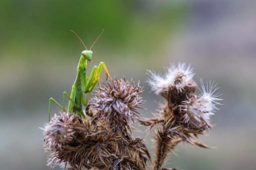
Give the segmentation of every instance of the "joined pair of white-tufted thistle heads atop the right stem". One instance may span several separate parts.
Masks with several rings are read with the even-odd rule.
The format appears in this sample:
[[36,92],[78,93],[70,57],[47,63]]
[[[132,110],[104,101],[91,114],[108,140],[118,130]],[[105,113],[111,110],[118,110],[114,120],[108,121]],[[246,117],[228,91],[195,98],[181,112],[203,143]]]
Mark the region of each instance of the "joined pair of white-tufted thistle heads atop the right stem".
[[219,89],[217,85],[207,84],[205,88],[202,80],[201,94],[195,95],[197,85],[192,79],[192,70],[190,65],[186,67],[184,63],[178,66],[172,64],[164,76],[150,72],[148,82],[156,94],[166,98],[166,104],[160,106],[162,111],[159,115],[166,121],[172,118],[172,128],[180,126],[182,131],[196,130],[201,133],[211,128],[210,115],[222,99],[219,99],[218,93],[214,94]]

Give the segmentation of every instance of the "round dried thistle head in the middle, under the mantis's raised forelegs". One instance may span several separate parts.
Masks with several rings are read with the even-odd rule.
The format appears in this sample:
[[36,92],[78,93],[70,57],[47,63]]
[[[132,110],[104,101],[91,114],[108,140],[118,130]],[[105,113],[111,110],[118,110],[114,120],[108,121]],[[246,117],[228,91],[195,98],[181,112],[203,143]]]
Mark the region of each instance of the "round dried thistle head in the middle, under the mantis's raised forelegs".
[[108,125],[123,125],[138,118],[137,108],[143,103],[139,84],[125,80],[112,80],[100,88],[89,103],[94,106],[93,119],[104,120]]

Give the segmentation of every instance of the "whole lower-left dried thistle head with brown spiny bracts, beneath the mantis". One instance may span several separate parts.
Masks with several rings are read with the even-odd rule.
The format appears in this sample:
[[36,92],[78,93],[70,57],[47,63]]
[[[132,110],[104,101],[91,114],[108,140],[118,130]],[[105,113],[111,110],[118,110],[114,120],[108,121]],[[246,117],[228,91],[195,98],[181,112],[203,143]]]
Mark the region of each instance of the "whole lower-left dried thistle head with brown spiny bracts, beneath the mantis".
[[51,168],[102,168],[112,162],[108,158],[115,152],[111,134],[104,127],[82,121],[76,114],[55,115],[45,126],[44,136],[46,150],[53,152],[48,159]]

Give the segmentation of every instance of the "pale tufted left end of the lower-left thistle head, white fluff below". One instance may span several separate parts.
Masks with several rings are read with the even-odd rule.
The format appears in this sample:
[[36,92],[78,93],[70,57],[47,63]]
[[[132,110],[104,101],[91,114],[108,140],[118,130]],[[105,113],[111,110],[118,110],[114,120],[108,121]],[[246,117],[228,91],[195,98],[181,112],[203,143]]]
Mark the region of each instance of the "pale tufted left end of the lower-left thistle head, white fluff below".
[[[75,114],[61,112],[59,116],[55,114],[52,120],[43,128],[44,142],[46,150],[51,150],[51,157],[48,159],[48,166],[54,168],[59,165],[62,169],[69,167],[67,159],[63,159],[64,148],[76,142],[79,136],[82,120]],[[68,151],[65,151],[68,157]]]

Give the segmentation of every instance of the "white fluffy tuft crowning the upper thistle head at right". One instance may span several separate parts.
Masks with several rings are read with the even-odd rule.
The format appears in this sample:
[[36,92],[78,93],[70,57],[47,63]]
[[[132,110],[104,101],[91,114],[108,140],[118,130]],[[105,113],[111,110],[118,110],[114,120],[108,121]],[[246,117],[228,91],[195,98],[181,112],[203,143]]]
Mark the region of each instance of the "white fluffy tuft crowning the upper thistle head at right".
[[150,75],[148,83],[156,94],[163,94],[168,91],[168,88],[175,88],[177,92],[181,92],[186,86],[196,87],[192,80],[193,69],[190,65],[186,66],[185,63],[178,63],[177,66],[174,63],[171,64],[164,75],[151,70],[148,73]]

